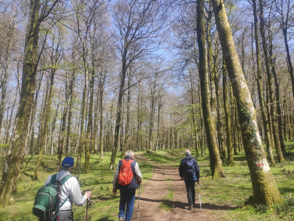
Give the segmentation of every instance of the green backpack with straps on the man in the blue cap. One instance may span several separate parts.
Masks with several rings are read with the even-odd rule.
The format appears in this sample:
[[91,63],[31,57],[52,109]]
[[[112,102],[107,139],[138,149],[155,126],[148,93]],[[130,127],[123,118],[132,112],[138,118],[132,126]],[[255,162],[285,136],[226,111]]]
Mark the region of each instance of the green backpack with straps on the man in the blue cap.
[[[61,179],[60,186],[62,186],[69,178],[71,178],[71,175],[66,175],[63,179]],[[41,220],[53,221],[59,213],[59,211],[57,211],[57,202],[59,202],[57,193],[58,186],[55,183],[56,174],[52,175],[50,183],[41,187],[36,194],[33,214]],[[69,197],[63,201],[60,207],[62,207],[68,199]]]

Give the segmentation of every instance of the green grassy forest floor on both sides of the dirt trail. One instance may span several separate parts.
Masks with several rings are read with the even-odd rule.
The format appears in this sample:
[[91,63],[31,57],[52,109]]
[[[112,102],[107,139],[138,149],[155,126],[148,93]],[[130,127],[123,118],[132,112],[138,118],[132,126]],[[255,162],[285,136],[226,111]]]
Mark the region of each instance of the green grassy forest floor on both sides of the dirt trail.
[[[294,152],[294,141],[287,142],[286,144],[287,150]],[[139,153],[143,154],[141,151]],[[144,156],[155,162],[178,166],[181,157],[183,157],[183,155],[180,155],[181,153],[183,153],[183,150],[164,150],[152,154],[144,153]],[[192,155],[195,156],[195,151],[192,151]],[[74,155],[74,158],[76,160],[76,155]],[[30,161],[28,170],[18,183],[18,193],[15,196],[15,203],[0,209],[0,221],[37,220],[31,213],[34,197],[37,190],[44,184],[45,179],[52,173],[56,156],[44,156],[44,161],[41,165],[42,169],[40,170],[42,180],[32,181],[31,177],[34,174],[36,159],[37,157],[35,156]],[[82,165],[83,160],[84,158],[82,158]],[[90,174],[80,174],[82,191],[91,189],[93,192],[93,201],[96,202],[96,205],[90,205],[89,207],[89,221],[117,220],[119,194],[114,195],[111,192],[113,171],[108,170],[109,160],[110,153],[105,153],[103,161],[99,161],[98,156],[91,155]],[[212,181],[208,154],[198,159],[201,174],[201,201],[203,206],[211,208],[211,213],[216,214],[219,220],[294,220],[294,156],[287,156],[283,164],[278,164],[277,167],[271,168],[275,176],[275,181],[281,194],[286,197],[286,201],[288,200],[287,196],[292,193],[292,199],[290,199],[288,204],[277,206],[274,210],[269,210],[264,206],[247,210],[240,208],[250,195],[252,195],[252,187],[244,153],[234,156],[234,160],[235,166],[223,166],[228,178]],[[140,163],[140,169],[144,178],[143,182],[146,184],[147,179],[152,176],[152,165],[143,160]],[[83,168],[81,172],[83,172]],[[175,194],[172,186],[173,182],[170,184],[168,195],[163,199],[162,207],[166,210],[168,210],[168,205],[164,204],[164,200],[173,200],[173,194]],[[141,187],[141,191],[143,190],[144,185]],[[74,207],[73,211],[75,221],[85,220],[85,207]]]

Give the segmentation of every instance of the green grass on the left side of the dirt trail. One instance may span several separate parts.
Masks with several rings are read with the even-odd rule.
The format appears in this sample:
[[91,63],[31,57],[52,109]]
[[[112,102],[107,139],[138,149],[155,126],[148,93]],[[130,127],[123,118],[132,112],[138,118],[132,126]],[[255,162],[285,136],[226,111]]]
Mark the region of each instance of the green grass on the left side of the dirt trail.
[[[143,153],[143,152],[141,152]],[[76,154],[72,155],[76,160]],[[117,154],[120,156],[120,153]],[[54,174],[53,169],[56,164],[55,155],[46,155],[43,157],[43,163],[40,169],[39,181],[32,181],[34,175],[34,165],[36,165],[38,156],[34,156],[29,165],[28,170],[18,182],[18,193],[14,196],[15,203],[6,208],[0,209],[0,221],[35,221],[38,220],[32,214],[34,197],[39,188],[44,185],[45,179]],[[64,156],[63,156],[64,157]],[[89,221],[91,220],[117,220],[119,192],[114,195],[112,193],[112,181],[114,171],[108,170],[111,153],[105,153],[103,161],[99,161],[99,156],[91,154],[90,158],[90,173],[83,174],[83,166],[85,158],[82,158],[82,166],[80,173],[80,187],[82,193],[87,189],[91,189],[93,193],[93,201],[96,205],[89,205]],[[116,159],[118,162],[119,157]],[[140,164],[140,170],[143,174],[143,182],[151,178],[153,168],[151,164]],[[72,172],[74,175],[74,171]],[[141,187],[141,190],[144,188]],[[85,207],[73,207],[74,219],[85,220]]]

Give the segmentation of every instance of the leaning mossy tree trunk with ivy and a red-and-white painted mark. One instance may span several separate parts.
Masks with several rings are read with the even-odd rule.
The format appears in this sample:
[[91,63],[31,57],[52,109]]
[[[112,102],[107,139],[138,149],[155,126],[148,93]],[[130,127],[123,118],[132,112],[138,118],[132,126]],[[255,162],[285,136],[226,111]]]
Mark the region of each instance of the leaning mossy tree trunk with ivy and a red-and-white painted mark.
[[259,136],[256,111],[240,65],[232,32],[222,0],[212,0],[216,27],[237,102],[242,140],[253,187],[251,203],[269,204],[282,202],[279,189],[265,157]]

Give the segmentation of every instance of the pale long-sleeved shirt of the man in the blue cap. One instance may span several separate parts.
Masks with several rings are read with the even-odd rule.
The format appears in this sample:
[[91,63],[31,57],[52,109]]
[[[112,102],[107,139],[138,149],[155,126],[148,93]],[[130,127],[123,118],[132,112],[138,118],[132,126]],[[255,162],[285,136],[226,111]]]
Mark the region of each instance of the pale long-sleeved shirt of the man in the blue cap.
[[[71,175],[71,173],[67,170],[61,170],[56,175],[56,180],[61,180],[66,175]],[[51,175],[52,176],[52,175]],[[50,183],[51,176],[49,176],[44,186]],[[61,194],[60,194],[60,204],[69,197],[69,199],[64,203],[64,205],[60,208],[60,210],[71,210],[73,204],[76,206],[85,205],[86,198],[81,194],[81,188],[78,184],[78,180],[76,177],[70,177],[62,186],[61,186]]]

